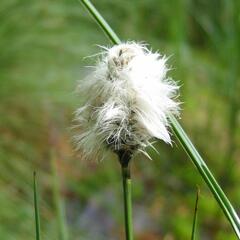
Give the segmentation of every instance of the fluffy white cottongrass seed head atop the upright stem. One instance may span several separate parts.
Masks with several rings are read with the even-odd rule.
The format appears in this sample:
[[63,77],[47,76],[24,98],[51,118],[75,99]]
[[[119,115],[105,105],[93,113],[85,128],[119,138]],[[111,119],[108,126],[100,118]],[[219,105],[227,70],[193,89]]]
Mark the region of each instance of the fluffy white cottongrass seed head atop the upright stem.
[[179,87],[166,76],[167,58],[135,42],[102,48],[78,86],[84,100],[75,140],[82,156],[99,159],[104,149],[144,152],[154,138],[171,143],[168,115],[179,112]]

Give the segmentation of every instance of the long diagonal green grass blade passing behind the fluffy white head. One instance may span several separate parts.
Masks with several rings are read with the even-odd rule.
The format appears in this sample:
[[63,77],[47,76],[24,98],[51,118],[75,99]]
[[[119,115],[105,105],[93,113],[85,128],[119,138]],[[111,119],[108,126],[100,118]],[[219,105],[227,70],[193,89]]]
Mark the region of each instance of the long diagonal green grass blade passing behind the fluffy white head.
[[[114,44],[121,43],[116,33],[111,29],[111,27],[97,11],[94,5],[89,0],[81,0],[81,2],[90,12],[90,14],[94,17],[94,19],[98,22],[98,24],[100,25],[104,33],[110,38],[110,40]],[[215,199],[217,200],[219,206],[223,210],[225,216],[231,223],[232,228],[235,231],[238,239],[240,239],[240,220],[236,211],[232,207],[230,201],[224,194],[221,187],[218,185],[211,171],[208,169],[206,163],[198,153],[197,149],[192,144],[191,140],[188,138],[187,134],[185,133],[177,119],[174,116],[170,115],[169,120],[171,122],[174,134],[176,135],[177,139],[181,143],[182,147],[184,148],[190,159],[192,160],[193,164],[198,169],[202,178],[204,179]]]

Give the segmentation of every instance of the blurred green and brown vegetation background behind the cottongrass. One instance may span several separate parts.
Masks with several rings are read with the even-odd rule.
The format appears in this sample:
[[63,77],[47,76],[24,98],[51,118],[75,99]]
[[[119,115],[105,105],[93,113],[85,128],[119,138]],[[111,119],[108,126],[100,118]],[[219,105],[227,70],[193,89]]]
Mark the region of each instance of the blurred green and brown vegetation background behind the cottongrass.
[[[171,56],[170,74],[182,85],[181,122],[239,212],[240,2],[93,2],[121,39]],[[71,144],[77,80],[92,64],[83,57],[108,39],[73,0],[2,0],[0,23],[0,238],[34,239],[36,170],[42,239],[59,239],[54,158],[69,239],[122,239],[116,158],[81,162]],[[138,156],[132,165],[136,239],[190,239],[196,185],[198,239],[235,239],[177,142],[157,148],[154,161]]]

